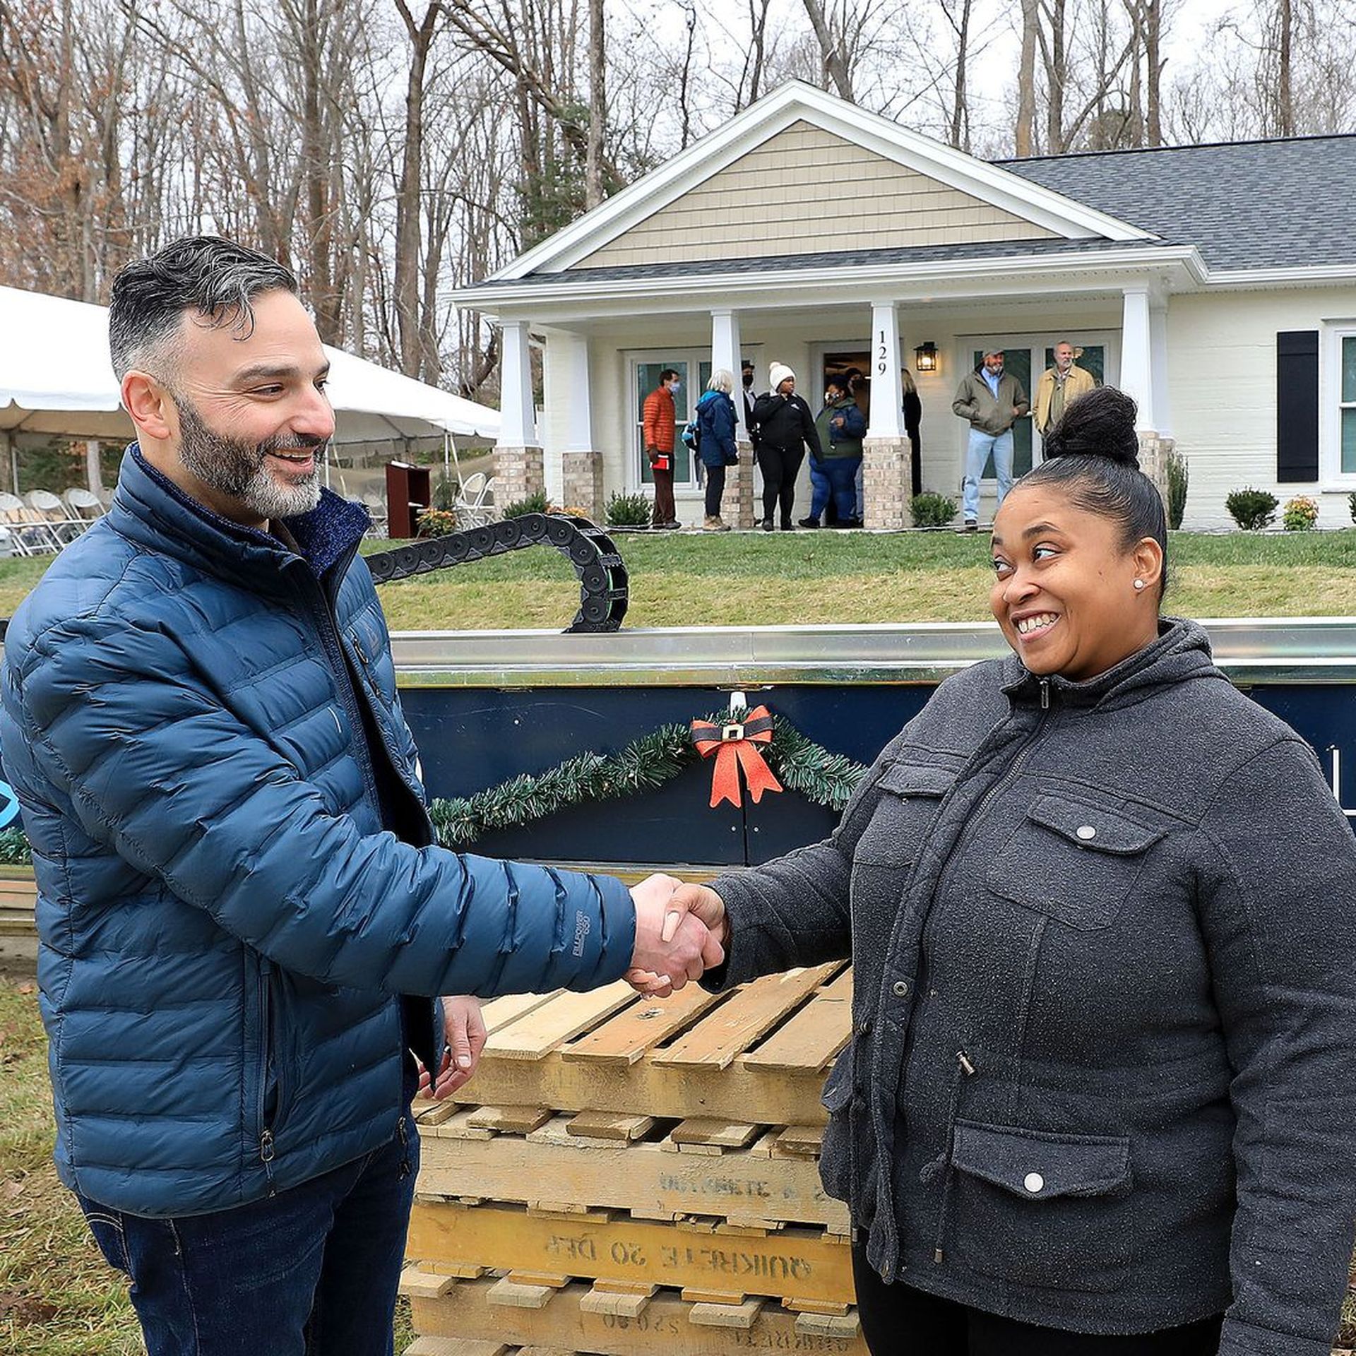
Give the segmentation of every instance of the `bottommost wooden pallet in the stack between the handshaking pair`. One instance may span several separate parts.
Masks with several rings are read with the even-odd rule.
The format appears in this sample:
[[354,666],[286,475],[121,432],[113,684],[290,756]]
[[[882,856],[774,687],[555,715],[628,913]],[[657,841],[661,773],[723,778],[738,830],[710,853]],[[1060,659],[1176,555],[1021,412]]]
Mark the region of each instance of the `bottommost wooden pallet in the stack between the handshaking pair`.
[[[656,1290],[624,1295],[578,1281],[541,1285],[509,1277],[452,1281],[407,1268],[401,1291],[410,1296],[420,1341],[415,1356],[491,1356],[518,1348],[595,1352],[601,1356],[730,1356],[732,1351],[803,1351],[866,1356],[854,1310],[843,1314],[797,1313],[782,1304],[749,1300],[712,1304]],[[431,1345],[435,1340],[488,1344],[484,1351]]]

